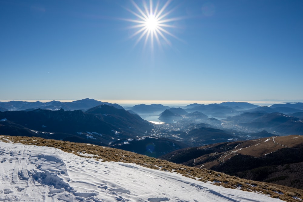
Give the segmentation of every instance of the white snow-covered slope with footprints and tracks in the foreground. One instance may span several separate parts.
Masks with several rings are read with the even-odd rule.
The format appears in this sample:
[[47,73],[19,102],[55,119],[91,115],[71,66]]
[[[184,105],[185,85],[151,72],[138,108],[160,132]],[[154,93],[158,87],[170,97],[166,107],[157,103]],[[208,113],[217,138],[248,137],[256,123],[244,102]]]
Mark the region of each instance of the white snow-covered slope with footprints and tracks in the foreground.
[[0,141],[0,201],[281,201],[52,147]]

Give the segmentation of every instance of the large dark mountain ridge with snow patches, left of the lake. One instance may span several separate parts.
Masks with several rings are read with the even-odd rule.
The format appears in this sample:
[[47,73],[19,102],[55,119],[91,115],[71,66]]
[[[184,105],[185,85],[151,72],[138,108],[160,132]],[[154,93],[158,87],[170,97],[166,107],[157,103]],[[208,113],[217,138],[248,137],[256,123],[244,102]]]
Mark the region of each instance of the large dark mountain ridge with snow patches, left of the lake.
[[108,145],[121,138],[150,134],[153,125],[124,109],[102,104],[81,110],[0,112],[0,134],[36,136]]

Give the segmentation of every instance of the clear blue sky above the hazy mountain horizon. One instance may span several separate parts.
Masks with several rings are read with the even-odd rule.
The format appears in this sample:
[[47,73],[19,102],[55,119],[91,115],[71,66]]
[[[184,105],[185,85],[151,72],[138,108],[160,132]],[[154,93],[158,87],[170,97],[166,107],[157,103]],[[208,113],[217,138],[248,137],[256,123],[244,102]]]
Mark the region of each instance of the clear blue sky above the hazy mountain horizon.
[[0,100],[303,101],[302,0],[173,0],[153,48],[135,5],[0,0]]

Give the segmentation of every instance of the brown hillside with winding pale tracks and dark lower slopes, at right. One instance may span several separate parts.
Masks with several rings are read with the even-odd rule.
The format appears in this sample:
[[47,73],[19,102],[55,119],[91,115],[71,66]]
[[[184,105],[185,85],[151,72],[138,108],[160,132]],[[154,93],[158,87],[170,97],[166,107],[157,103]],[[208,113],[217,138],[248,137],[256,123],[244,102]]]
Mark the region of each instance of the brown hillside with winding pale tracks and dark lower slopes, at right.
[[299,135],[186,148],[161,159],[245,179],[303,188],[303,136]]

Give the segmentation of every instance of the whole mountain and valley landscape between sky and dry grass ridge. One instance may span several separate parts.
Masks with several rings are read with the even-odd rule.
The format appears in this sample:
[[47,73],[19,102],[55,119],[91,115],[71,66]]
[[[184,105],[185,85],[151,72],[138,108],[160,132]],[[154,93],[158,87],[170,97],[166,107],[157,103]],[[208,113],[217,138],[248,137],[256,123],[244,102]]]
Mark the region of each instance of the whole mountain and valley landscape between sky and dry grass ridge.
[[[57,110],[72,106],[74,110]],[[141,104],[123,108],[87,98],[73,104],[0,102],[0,107],[12,109],[0,112],[1,135],[107,146],[303,189],[303,177],[298,177],[303,164],[303,120],[293,116],[300,116],[303,103],[260,107],[226,102],[183,108]],[[27,107],[37,109],[24,109]]]

